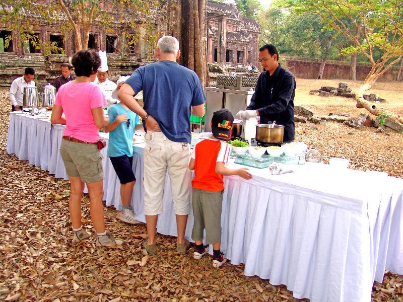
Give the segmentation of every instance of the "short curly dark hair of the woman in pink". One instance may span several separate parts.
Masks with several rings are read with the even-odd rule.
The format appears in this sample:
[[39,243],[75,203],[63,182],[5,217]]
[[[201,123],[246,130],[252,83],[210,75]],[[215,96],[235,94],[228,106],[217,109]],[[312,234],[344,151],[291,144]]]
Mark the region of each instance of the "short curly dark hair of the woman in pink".
[[95,49],[83,49],[74,54],[72,64],[77,77],[90,77],[101,66],[101,58]]

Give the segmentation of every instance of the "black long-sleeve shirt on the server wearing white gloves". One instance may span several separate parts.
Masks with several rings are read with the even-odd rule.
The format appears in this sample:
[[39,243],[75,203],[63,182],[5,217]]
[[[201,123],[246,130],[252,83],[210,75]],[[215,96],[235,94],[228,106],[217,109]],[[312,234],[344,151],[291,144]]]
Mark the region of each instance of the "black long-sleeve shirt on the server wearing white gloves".
[[263,71],[257,80],[255,92],[251,98],[247,110],[257,110],[260,115],[260,123],[276,121],[276,124],[284,126],[284,141],[294,140],[294,75],[279,66],[270,75]]

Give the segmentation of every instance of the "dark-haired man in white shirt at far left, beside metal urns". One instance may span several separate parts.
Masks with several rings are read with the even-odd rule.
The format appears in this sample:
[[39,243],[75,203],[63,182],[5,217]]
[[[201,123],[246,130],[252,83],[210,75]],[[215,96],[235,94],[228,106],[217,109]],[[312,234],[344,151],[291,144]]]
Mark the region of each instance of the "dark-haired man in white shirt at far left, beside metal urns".
[[10,87],[10,101],[12,104],[12,111],[22,110],[22,100],[24,87],[35,87],[35,69],[31,67],[25,68],[22,77],[17,78],[13,81]]

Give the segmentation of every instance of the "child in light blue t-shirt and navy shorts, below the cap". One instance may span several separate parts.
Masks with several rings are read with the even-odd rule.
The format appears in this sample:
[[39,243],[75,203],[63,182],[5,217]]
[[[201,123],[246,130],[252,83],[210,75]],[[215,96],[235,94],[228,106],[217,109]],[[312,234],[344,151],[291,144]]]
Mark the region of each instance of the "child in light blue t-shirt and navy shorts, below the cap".
[[122,199],[122,210],[117,215],[117,219],[136,224],[140,221],[135,218],[130,202],[136,183],[132,170],[133,133],[135,127],[140,124],[139,116],[122,103],[110,106],[108,116],[109,125],[105,127],[105,132],[110,132],[108,156],[120,180],[120,197]]

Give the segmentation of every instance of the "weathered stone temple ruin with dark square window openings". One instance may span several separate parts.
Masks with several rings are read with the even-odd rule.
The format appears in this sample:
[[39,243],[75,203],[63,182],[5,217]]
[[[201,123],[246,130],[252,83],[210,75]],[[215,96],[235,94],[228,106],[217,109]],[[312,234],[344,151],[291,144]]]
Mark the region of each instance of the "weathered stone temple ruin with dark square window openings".
[[[234,5],[215,1],[208,1],[206,14],[208,61],[231,65],[233,68],[244,67],[249,63],[257,65],[260,25],[242,17]],[[63,49],[64,54],[46,49],[45,46],[36,49],[30,40],[21,41],[17,31],[0,26],[1,87],[10,87],[11,82],[20,77],[27,66],[35,68],[37,84],[49,82],[60,74],[60,64],[68,62],[74,54],[73,32],[63,35],[59,24],[49,24],[38,16],[30,18],[34,21],[32,24],[35,24],[34,35],[44,43],[54,43]],[[155,28],[156,32],[164,31],[157,20]],[[111,80],[116,80],[118,74],[130,74],[139,66],[156,60],[155,49],[149,47],[142,38],[133,49],[122,47],[122,30],[118,23],[106,29],[94,22],[91,28],[88,47],[106,50]],[[12,39],[6,46],[5,40],[10,36]]]

